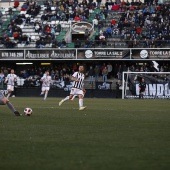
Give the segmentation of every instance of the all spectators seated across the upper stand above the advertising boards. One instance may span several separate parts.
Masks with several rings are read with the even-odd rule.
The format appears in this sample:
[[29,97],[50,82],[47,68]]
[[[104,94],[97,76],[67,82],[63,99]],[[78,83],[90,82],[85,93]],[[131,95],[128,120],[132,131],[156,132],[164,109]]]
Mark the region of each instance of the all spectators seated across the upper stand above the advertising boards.
[[[83,43],[76,39],[76,48],[91,48],[96,45],[107,47],[107,41],[115,35],[120,37],[120,42],[126,42],[129,48],[157,48],[170,43],[170,5],[159,4],[157,0],[145,0],[144,3],[140,0],[131,2],[107,0],[103,5],[101,0],[96,2],[94,0],[47,0],[44,2],[44,11],[40,20],[36,20],[36,16],[40,14],[42,6],[36,0],[27,0],[22,6],[16,0],[14,8],[21,8],[20,10],[25,13],[12,15],[10,23],[3,30],[0,43],[6,48],[16,47],[17,43],[28,45],[32,41],[29,35],[22,32],[22,24],[31,25],[39,34],[39,38],[35,40],[37,48],[43,48],[46,44],[52,44],[53,48],[66,47],[65,39],[57,41],[56,38],[56,33],[62,31],[60,22],[51,24],[52,21],[89,21],[95,9],[99,11],[95,13],[92,21],[95,30],[99,32],[96,33],[94,40],[90,39],[90,34],[85,34]],[[114,18],[115,11],[118,18]],[[0,13],[0,18],[1,16]],[[0,20],[0,25],[1,23]]]

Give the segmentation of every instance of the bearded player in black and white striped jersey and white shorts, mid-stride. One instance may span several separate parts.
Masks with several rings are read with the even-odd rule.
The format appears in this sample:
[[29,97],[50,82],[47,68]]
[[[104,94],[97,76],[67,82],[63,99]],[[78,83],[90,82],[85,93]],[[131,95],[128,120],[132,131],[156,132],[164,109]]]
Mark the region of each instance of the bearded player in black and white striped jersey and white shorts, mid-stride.
[[70,96],[67,96],[65,99],[61,100],[59,102],[59,106],[63,104],[63,102],[72,99],[74,95],[77,95],[79,97],[79,110],[84,110],[86,106],[83,106],[83,96],[84,96],[84,66],[79,66],[79,71],[75,72],[71,76],[71,80],[73,81],[72,88],[70,91]]

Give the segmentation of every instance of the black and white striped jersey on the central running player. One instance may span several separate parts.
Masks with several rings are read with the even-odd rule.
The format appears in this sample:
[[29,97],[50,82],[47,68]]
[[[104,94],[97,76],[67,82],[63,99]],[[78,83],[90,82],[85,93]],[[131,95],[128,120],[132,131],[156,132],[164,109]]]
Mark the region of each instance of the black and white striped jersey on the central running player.
[[83,89],[84,87],[84,74],[80,73],[80,72],[75,72],[72,77],[75,77],[77,80],[79,80],[78,82],[73,81],[72,87],[73,88],[77,88],[77,89]]

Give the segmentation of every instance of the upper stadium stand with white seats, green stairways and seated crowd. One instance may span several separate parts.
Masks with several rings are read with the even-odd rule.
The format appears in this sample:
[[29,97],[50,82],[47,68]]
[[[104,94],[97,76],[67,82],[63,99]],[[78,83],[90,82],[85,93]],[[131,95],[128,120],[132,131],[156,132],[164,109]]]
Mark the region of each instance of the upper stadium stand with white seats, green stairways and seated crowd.
[[[79,48],[156,48],[170,44],[168,3],[106,1],[97,8],[95,2],[86,0],[26,1],[17,8],[1,7],[0,11],[1,47],[73,48],[76,39],[70,37],[71,25],[78,20],[94,24],[88,39],[80,39]],[[7,39],[12,43],[6,44]]]

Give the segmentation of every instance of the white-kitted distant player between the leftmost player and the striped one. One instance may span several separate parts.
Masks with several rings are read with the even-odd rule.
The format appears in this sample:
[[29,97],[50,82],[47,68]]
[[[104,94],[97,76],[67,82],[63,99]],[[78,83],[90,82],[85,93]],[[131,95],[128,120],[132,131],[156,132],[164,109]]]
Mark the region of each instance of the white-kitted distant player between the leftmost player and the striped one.
[[48,96],[48,91],[50,90],[50,85],[52,83],[51,76],[49,76],[49,71],[46,71],[46,73],[41,78],[42,81],[42,88],[41,88],[41,94],[44,95],[44,100],[46,100]]

